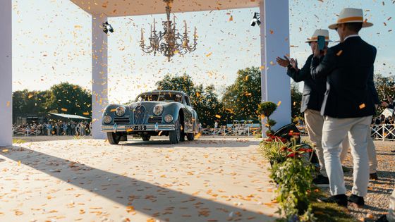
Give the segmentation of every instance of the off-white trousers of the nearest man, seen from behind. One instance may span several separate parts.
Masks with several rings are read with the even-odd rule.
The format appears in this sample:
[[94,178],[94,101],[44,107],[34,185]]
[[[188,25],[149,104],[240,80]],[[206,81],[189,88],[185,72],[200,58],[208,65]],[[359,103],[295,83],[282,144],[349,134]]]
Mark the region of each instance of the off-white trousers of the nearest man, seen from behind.
[[372,116],[361,118],[332,118],[325,116],[322,128],[322,148],[332,195],[345,195],[344,175],[340,163],[340,144],[349,132],[353,155],[353,195],[365,197],[369,183],[367,160],[367,127]]

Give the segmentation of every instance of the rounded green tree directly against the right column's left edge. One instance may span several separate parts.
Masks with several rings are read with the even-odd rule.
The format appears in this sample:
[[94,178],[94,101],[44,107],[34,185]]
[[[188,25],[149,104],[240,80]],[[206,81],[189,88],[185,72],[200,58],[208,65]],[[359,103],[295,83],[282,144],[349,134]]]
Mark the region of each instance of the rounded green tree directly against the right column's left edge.
[[257,119],[261,102],[261,73],[257,67],[238,70],[235,82],[226,88],[224,109],[233,118]]

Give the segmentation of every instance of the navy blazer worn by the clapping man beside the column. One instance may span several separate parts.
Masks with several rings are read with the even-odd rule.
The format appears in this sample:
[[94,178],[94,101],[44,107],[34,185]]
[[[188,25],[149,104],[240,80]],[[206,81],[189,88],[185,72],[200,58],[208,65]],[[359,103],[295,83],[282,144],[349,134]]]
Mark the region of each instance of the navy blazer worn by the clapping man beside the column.
[[326,90],[326,78],[319,78],[317,80],[312,79],[310,74],[311,60],[312,54],[308,57],[308,60],[305,62],[303,68],[297,71],[291,67],[288,68],[286,72],[286,75],[291,77],[293,81],[304,81],[302,104],[300,105],[301,113],[303,113],[306,109],[320,111]]

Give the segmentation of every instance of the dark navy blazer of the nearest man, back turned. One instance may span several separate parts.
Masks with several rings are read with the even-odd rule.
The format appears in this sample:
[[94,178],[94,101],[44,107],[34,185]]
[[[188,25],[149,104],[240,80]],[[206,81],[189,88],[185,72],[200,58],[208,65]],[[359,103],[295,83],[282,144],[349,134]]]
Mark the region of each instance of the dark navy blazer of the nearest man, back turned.
[[312,58],[312,78],[327,76],[322,116],[358,118],[375,114],[375,104],[379,104],[373,82],[376,54],[377,49],[360,37],[349,37],[329,48],[321,63],[319,58]]

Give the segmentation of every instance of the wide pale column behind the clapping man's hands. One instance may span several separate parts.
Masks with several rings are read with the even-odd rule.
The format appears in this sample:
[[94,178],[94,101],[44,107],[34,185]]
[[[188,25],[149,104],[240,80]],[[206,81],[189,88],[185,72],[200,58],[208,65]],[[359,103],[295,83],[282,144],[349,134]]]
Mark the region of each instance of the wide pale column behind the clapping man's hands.
[[289,54],[288,0],[262,0],[260,21],[262,101],[281,101],[271,116],[277,121],[272,129],[278,130],[291,123],[291,81],[286,69],[276,63],[277,56]]

